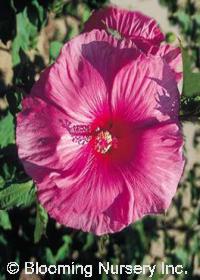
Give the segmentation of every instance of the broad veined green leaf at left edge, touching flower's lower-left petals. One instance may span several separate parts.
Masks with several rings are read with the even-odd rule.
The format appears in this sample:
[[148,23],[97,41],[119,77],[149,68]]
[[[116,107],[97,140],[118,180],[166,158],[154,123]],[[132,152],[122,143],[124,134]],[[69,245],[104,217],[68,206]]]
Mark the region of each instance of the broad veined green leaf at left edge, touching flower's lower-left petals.
[[35,200],[33,181],[13,183],[0,191],[0,209],[28,207]]

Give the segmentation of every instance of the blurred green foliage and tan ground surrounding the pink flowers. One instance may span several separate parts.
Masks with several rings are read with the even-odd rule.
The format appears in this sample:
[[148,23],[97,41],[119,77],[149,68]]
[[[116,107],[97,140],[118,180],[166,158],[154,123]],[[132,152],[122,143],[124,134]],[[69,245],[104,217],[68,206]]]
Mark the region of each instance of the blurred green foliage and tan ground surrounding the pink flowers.
[[[165,215],[149,216],[104,238],[64,228],[37,205],[35,188],[25,174],[15,146],[16,114],[39,73],[57,57],[63,43],[79,34],[92,10],[107,0],[0,1],[0,280],[58,279],[25,275],[25,261],[40,264],[182,264],[187,275],[159,279],[200,279],[200,124],[184,122],[187,165],[178,192]],[[187,47],[190,67],[200,71],[200,0],[111,0],[154,17],[170,44],[177,36]],[[189,106],[189,107],[188,107]],[[188,91],[181,110],[200,108]],[[20,190],[20,192],[18,192]],[[14,207],[18,206],[18,207]],[[20,273],[6,274],[9,261]],[[79,275],[80,278],[80,275]],[[77,279],[77,276],[59,276]],[[82,278],[83,279],[83,278]],[[146,276],[95,275],[93,279],[147,279]]]

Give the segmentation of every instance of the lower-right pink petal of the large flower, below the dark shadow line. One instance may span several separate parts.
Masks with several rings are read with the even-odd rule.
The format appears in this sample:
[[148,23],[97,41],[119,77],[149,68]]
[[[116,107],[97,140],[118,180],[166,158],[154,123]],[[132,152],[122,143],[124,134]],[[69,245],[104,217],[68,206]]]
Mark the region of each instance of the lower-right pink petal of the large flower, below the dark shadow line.
[[134,192],[133,220],[167,210],[183,173],[183,139],[176,123],[141,131],[137,154],[123,174]]

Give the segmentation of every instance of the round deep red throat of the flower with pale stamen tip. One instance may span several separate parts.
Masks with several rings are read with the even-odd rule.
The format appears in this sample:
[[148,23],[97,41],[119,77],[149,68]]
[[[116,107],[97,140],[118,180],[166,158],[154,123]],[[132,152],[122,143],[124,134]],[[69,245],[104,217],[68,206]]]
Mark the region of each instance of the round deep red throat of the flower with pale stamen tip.
[[102,116],[91,125],[89,145],[99,160],[129,163],[137,152],[138,132],[121,116]]

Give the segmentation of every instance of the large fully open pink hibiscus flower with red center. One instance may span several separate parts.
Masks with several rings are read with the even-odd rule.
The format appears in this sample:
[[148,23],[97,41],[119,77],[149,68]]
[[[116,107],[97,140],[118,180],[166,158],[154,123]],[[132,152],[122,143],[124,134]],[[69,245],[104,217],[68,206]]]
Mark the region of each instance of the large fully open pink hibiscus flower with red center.
[[[152,42],[162,38],[150,30]],[[165,211],[184,167],[178,111],[163,57],[103,30],[77,36],[17,118],[19,157],[40,203],[59,223],[97,235]]]

